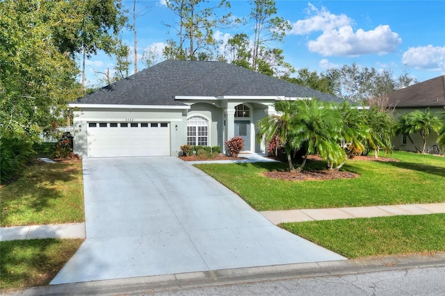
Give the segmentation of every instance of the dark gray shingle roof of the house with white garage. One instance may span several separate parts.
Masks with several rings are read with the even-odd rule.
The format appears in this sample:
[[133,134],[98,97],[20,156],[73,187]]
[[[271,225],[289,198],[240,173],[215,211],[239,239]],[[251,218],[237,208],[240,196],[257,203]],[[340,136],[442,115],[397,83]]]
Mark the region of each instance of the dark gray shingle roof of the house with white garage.
[[74,104],[180,106],[175,96],[284,96],[342,101],[236,65],[220,62],[165,60],[126,79],[86,94]]

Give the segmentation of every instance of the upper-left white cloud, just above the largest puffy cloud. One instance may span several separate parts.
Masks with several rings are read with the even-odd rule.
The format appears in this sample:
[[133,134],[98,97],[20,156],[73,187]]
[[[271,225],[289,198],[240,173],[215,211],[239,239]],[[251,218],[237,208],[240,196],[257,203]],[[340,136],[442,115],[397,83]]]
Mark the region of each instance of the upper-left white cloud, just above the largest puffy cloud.
[[308,14],[312,15],[307,19],[300,19],[292,24],[289,34],[306,35],[315,31],[327,31],[341,26],[348,26],[353,20],[346,15],[333,15],[325,7],[316,8],[309,3]]

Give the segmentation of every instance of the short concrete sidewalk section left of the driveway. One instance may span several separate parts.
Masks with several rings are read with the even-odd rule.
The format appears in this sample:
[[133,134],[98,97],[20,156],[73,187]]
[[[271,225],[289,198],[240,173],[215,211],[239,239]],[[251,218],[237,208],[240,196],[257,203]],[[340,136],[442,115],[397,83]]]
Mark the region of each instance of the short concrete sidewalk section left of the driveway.
[[85,237],[85,223],[29,225],[0,229],[0,241]]

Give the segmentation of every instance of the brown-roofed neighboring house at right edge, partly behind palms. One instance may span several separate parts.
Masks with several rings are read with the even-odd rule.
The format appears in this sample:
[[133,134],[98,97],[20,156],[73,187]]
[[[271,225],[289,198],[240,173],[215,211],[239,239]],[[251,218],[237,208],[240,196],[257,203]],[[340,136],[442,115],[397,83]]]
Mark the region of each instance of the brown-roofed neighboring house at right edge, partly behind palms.
[[[394,115],[396,117],[405,113],[410,113],[414,110],[421,110],[424,112],[426,108],[430,108],[431,113],[442,115],[445,111],[445,75],[434,79],[416,83],[394,90],[387,94],[389,99],[389,106],[395,108]],[[421,148],[423,139],[420,133],[411,135],[414,144]],[[428,136],[427,147],[436,144],[437,133],[432,132]],[[398,135],[393,140],[395,149],[416,151],[410,140],[407,140],[403,135]]]

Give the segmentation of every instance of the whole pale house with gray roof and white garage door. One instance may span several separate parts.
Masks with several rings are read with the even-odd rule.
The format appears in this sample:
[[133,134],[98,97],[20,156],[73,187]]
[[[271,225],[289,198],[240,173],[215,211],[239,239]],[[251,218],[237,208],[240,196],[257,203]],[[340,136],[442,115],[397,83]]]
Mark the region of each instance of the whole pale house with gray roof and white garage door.
[[165,60],[85,97],[74,111],[74,151],[83,157],[178,156],[181,145],[220,146],[236,135],[264,152],[257,122],[275,101],[341,101],[301,85],[219,62]]

